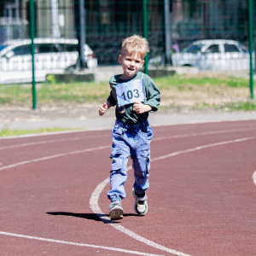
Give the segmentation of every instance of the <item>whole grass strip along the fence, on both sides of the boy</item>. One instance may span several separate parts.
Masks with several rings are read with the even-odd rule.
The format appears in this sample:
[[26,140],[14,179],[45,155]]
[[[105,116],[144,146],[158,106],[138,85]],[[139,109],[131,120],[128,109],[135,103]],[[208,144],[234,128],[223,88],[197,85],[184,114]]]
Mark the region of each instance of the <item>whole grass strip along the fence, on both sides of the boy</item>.
[[[174,75],[155,78],[161,91],[162,107],[182,108],[229,108],[230,110],[255,110],[249,101],[249,79],[237,79],[222,75]],[[255,81],[254,81],[255,83]],[[0,108],[32,108],[31,84],[0,85]],[[109,84],[96,82],[37,84],[38,108],[73,108],[84,104],[94,106],[105,102],[109,95]],[[212,102],[211,99],[215,99]],[[237,103],[239,102],[239,103]]]

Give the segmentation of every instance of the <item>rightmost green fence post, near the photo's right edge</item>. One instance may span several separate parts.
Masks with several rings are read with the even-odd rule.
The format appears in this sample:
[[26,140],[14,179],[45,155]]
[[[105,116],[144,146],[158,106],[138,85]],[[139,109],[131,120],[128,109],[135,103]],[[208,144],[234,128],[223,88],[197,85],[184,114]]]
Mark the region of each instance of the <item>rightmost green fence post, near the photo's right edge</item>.
[[249,49],[250,49],[250,90],[253,99],[253,1],[248,0]]

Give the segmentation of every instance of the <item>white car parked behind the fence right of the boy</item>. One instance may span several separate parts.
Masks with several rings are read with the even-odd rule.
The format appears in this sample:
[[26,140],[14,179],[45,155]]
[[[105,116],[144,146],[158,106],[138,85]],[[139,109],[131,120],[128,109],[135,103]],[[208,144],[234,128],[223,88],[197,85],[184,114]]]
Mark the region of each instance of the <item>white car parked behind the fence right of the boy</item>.
[[206,70],[249,70],[248,49],[234,40],[199,40],[172,54],[174,66]]

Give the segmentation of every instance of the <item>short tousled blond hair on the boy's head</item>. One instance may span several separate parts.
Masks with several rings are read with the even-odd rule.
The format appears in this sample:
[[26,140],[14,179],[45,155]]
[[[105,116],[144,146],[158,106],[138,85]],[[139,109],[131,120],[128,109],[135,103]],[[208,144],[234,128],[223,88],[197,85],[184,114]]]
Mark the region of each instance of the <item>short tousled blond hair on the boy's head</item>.
[[130,54],[137,53],[142,59],[149,52],[148,40],[138,35],[123,40],[121,55],[127,50]]

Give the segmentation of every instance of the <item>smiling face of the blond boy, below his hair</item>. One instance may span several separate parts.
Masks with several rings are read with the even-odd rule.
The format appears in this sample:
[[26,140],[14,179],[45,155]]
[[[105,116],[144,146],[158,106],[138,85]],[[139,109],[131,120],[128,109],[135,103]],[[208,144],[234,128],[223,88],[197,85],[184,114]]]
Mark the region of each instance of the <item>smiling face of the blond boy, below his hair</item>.
[[145,61],[137,53],[129,53],[127,50],[122,55],[119,55],[119,63],[122,65],[124,73],[122,79],[132,79],[137,72],[143,67]]

